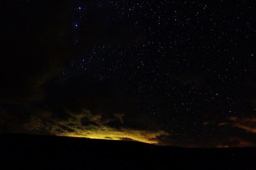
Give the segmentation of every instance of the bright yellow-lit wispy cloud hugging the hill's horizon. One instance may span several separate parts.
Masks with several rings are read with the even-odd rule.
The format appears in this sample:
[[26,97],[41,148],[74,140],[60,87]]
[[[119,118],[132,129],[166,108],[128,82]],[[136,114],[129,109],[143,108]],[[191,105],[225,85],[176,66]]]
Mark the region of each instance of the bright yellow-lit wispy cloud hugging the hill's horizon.
[[[56,131],[55,135],[57,136],[72,136],[72,137],[81,137],[81,138],[92,138],[92,139],[113,139],[113,140],[129,140],[129,141],[141,141],[144,143],[157,144],[157,136],[167,134],[164,131],[148,131],[145,129],[134,129],[128,127],[120,127],[109,124],[109,122],[121,122],[120,117],[115,117],[108,121],[104,120],[102,116],[93,115],[88,110],[84,110],[83,113],[71,113],[73,118],[68,122],[63,122],[65,126],[68,126],[70,122],[74,126],[68,126],[70,129],[73,129],[73,132],[68,131]],[[115,115],[115,114],[114,114]],[[124,114],[122,114],[123,117]],[[86,118],[86,119],[84,119]],[[86,125],[79,124],[81,119],[88,121]],[[61,128],[63,130],[63,128]]]

